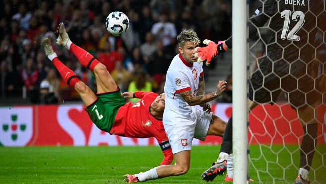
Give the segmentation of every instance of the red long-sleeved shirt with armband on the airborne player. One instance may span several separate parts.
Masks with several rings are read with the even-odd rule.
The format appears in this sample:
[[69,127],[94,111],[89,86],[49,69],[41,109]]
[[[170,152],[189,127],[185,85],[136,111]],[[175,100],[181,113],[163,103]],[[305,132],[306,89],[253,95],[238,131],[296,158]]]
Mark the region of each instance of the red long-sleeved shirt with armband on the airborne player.
[[126,103],[119,108],[110,134],[124,137],[148,138],[155,137],[164,153],[161,165],[171,164],[173,154],[161,119],[150,112],[151,103],[158,94],[154,92],[135,92],[140,98],[136,104]]

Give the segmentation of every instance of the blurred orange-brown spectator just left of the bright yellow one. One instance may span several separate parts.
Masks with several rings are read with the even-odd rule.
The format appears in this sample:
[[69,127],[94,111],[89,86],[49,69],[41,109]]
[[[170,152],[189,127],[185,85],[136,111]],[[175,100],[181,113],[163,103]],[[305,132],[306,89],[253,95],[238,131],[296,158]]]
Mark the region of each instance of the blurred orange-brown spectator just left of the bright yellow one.
[[115,63],[115,69],[111,73],[112,78],[115,83],[120,87],[121,92],[126,92],[128,90],[130,72],[123,67],[121,61]]

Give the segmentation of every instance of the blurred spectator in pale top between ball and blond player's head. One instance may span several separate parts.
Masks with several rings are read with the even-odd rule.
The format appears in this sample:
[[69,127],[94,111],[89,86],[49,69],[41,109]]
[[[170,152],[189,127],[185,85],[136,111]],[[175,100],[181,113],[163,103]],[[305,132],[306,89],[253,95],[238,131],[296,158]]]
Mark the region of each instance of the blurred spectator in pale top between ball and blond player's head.
[[162,41],[163,46],[175,43],[177,37],[177,30],[174,24],[168,22],[168,16],[165,13],[160,15],[160,21],[153,25],[151,32],[157,40]]

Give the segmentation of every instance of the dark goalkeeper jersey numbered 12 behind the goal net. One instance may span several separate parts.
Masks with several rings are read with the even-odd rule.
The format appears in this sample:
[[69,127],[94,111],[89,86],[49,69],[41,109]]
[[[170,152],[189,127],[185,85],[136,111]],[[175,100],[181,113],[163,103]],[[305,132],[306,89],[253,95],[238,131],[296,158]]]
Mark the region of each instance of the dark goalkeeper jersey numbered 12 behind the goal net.
[[315,59],[318,48],[316,34],[326,30],[324,5],[325,0],[266,0],[256,9],[250,18],[249,37],[262,27],[270,35],[264,43],[267,57],[259,65],[264,75],[291,71],[300,77],[309,70],[307,64]]

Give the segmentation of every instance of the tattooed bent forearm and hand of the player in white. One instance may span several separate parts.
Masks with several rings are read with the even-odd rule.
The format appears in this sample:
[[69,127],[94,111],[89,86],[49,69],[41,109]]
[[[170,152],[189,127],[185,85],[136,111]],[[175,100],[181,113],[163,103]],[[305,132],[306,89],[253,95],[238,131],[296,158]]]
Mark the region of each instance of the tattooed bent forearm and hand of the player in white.
[[226,89],[226,81],[219,81],[217,85],[217,90],[208,94],[204,94],[201,96],[193,96],[190,90],[185,92],[180,92],[179,94],[190,106],[194,106],[194,105],[200,105],[212,101],[213,99],[222,95],[225,89]]

